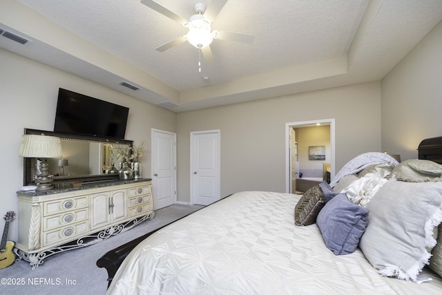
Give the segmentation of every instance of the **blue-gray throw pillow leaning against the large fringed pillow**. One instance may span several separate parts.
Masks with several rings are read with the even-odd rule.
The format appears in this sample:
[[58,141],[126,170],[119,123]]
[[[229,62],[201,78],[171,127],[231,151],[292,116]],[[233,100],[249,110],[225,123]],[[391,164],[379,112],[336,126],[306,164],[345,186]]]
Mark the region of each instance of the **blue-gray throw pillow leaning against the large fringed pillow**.
[[369,210],[339,193],[321,209],[316,219],[325,245],[336,255],[350,254],[367,228]]

